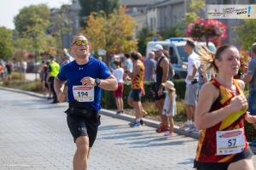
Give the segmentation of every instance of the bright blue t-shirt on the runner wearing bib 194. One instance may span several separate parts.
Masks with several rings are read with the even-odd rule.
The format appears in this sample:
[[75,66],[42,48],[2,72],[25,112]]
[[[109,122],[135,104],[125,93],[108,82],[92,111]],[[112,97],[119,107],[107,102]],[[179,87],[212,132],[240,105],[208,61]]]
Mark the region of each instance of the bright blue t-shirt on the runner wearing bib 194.
[[[68,63],[67,65],[63,65],[61,67],[61,71],[58,74],[58,78],[65,82],[67,81],[68,86],[68,102],[74,102],[73,98],[73,86],[82,85],[82,78],[84,77],[92,77],[92,78],[100,78],[106,79],[110,77],[110,71],[108,70],[108,66],[98,59],[94,59],[92,57],[89,58],[88,63],[84,65],[78,65],[75,60]],[[88,107],[92,107],[96,111],[101,109],[101,96],[102,96],[102,88],[95,87],[94,88],[94,101],[92,102],[83,102],[84,105]]]

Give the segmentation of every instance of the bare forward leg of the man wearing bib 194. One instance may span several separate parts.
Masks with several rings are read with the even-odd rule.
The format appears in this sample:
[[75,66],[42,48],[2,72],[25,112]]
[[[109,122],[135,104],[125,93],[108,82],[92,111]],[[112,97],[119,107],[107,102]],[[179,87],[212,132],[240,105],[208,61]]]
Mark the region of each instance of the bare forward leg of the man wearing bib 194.
[[80,136],[76,139],[77,150],[73,156],[73,170],[87,170],[89,157],[89,138]]

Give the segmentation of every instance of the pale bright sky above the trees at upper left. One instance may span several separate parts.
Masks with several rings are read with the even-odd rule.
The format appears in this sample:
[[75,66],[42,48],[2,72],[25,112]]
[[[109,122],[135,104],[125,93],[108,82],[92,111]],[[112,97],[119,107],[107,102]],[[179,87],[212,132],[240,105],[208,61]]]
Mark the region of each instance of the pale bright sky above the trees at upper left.
[[59,8],[62,4],[71,3],[72,0],[1,0],[0,3],[0,26],[15,29],[14,18],[20,9],[30,5],[46,3],[49,8]]

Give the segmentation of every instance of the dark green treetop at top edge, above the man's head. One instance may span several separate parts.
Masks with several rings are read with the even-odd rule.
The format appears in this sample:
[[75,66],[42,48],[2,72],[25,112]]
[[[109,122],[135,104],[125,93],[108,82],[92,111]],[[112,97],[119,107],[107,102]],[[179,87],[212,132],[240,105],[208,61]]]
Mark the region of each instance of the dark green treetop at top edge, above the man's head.
[[[105,14],[112,14],[114,10],[120,7],[119,0],[79,0],[81,5],[80,16],[87,17],[91,12],[103,11]],[[84,26],[82,20],[81,26]]]

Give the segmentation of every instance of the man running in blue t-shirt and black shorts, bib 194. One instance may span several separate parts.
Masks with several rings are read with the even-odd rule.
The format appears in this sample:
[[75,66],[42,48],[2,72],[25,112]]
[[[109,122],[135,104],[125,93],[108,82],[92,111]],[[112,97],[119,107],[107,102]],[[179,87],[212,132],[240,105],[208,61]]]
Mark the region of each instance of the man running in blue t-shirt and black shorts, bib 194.
[[[73,169],[87,170],[90,148],[100,125],[102,89],[114,91],[118,85],[107,65],[90,57],[89,42],[83,34],[73,37],[71,50],[75,60],[61,67],[55,77],[55,92],[60,102],[68,96],[67,125],[77,146]],[[61,91],[66,81],[67,94]]]

